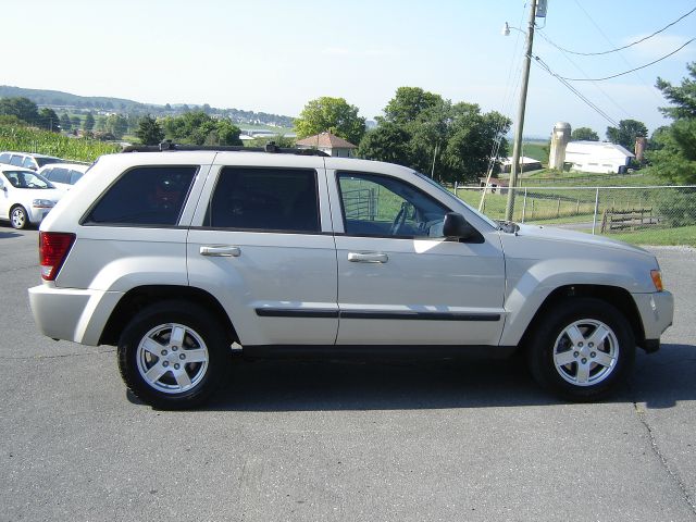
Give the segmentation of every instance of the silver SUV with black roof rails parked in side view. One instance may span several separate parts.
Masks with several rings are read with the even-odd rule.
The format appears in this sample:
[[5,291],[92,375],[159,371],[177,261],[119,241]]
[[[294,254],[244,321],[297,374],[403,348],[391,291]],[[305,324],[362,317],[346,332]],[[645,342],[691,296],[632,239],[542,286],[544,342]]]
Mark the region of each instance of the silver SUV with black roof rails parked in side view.
[[32,310],[49,337],[117,346],[156,408],[200,405],[235,343],[247,358],[520,347],[543,386],[593,400],[672,322],[651,253],[494,222],[403,166],[174,149],[92,169],[41,224]]

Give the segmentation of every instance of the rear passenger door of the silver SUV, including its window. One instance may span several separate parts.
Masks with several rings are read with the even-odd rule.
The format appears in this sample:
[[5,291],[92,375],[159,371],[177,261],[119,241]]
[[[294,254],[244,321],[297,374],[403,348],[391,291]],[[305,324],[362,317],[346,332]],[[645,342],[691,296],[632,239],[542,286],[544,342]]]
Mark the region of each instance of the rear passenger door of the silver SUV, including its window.
[[188,236],[191,286],[223,304],[241,345],[331,345],[336,251],[321,158],[220,153]]

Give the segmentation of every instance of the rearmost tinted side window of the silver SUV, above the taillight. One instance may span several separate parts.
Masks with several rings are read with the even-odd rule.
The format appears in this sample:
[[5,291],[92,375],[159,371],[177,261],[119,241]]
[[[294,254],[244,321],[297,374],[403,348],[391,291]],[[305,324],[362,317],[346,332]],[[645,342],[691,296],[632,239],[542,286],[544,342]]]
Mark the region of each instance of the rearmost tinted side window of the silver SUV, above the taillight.
[[137,166],[92,207],[85,225],[176,225],[197,166]]

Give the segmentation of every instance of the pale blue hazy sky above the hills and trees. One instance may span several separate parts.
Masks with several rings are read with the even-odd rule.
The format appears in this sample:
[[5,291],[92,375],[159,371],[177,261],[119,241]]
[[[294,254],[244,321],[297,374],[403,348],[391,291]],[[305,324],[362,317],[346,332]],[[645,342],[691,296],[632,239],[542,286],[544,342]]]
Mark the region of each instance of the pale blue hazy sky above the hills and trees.
[[[2,3],[0,85],[290,116],[332,96],[368,120],[398,87],[410,86],[514,120],[531,0]],[[591,127],[602,139],[620,120],[642,121],[650,132],[669,124],[655,82],[679,84],[686,63],[696,61],[696,41],[635,73],[571,83],[604,115],[539,64],[573,78],[639,67],[696,37],[696,12],[620,52],[583,57],[558,47],[626,46],[694,8],[693,0],[548,0],[547,17],[537,18],[543,28],[534,37],[524,135],[547,137],[558,121]],[[520,30],[504,36],[505,22]]]

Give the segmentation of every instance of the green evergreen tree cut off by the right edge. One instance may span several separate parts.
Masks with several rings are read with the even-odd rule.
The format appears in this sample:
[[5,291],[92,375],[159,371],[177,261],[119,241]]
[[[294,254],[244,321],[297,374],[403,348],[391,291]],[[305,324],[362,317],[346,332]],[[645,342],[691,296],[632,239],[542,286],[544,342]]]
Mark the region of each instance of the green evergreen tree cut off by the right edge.
[[671,103],[660,110],[672,124],[652,134],[655,145],[646,154],[651,172],[679,184],[696,183],[696,62],[686,69],[691,78],[682,78],[680,86],[657,79]]

